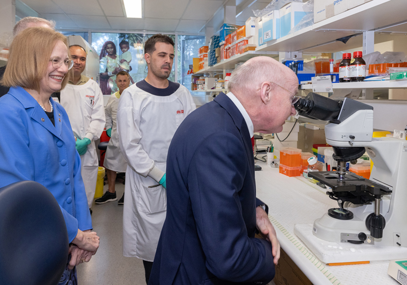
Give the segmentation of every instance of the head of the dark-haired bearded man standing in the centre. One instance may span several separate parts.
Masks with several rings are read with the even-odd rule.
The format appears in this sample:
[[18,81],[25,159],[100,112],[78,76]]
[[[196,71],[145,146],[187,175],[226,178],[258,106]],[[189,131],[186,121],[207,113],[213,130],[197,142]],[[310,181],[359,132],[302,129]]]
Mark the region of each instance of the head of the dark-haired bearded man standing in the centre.
[[154,35],[144,44],[144,58],[149,73],[159,79],[169,77],[174,56],[174,42],[166,35]]

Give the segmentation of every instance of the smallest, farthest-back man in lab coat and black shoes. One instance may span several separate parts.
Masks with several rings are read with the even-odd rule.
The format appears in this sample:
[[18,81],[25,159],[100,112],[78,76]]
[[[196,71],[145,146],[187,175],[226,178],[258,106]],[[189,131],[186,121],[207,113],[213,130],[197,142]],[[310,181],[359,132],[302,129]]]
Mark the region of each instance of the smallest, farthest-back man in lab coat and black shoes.
[[[107,202],[118,200],[116,190],[114,187],[117,172],[126,172],[127,162],[123,157],[119,147],[119,135],[117,131],[117,113],[119,107],[119,99],[124,89],[129,87],[130,75],[121,71],[116,75],[116,85],[119,91],[111,94],[105,107],[106,117],[106,134],[110,137],[107,145],[105,160],[103,166],[106,168],[107,183],[109,189],[103,194],[102,197],[95,200],[95,204],[105,204]],[[119,205],[124,204],[124,194],[119,200]]]

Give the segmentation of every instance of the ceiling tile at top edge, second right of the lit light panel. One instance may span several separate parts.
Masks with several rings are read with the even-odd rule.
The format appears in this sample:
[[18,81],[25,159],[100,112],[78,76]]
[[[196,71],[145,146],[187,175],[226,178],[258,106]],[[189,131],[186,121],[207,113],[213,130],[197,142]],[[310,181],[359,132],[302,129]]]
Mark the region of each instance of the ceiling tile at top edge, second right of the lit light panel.
[[223,2],[213,0],[191,0],[182,19],[186,20],[208,20]]

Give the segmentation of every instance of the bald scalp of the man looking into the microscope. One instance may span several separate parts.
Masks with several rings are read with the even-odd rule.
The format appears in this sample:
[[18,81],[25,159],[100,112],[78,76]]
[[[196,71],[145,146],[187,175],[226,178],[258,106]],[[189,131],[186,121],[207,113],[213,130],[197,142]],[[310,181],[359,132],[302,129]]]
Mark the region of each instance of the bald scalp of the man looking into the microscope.
[[282,86],[298,82],[296,74],[285,65],[268,56],[257,56],[238,67],[228,83],[229,90],[236,94],[254,93],[260,84],[275,82]]

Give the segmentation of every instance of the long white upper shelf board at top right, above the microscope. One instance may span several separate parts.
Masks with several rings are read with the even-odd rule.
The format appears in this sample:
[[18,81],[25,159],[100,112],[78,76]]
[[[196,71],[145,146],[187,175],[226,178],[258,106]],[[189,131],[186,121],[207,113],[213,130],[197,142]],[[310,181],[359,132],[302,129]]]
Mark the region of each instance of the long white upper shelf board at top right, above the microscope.
[[[405,0],[372,0],[339,15],[312,24],[292,35],[267,42],[256,51],[325,51],[344,50],[347,45],[336,39],[360,34],[366,30],[382,30],[407,20]],[[399,25],[399,29],[405,25]],[[340,28],[340,29],[339,29]],[[394,27],[396,28],[396,27]],[[391,27],[383,31],[391,31]],[[397,30],[400,32],[399,30]],[[324,45],[330,44],[329,48]]]

